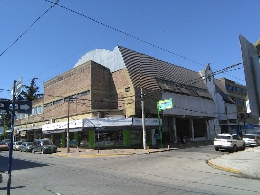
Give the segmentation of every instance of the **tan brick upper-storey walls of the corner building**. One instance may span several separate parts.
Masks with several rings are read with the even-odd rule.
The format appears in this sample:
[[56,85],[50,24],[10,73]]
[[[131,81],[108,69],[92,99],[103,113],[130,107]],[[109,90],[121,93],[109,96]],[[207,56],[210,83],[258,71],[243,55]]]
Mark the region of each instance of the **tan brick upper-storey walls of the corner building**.
[[[44,113],[32,116],[29,123],[66,118],[68,103],[64,98],[85,91],[90,91],[90,94],[70,101],[71,116],[89,114],[91,109],[118,109],[118,113],[125,114],[125,88],[130,87],[129,81],[129,76],[126,75],[124,69],[111,74],[108,68],[94,61],[88,61],[44,83],[44,97],[35,100],[35,104],[44,105]],[[58,100],[63,101],[53,104]],[[131,105],[131,107],[134,106]],[[134,109],[132,110],[131,113],[134,113]],[[95,115],[94,112],[92,114]],[[111,112],[114,111],[111,110]],[[25,121],[23,119],[17,122],[24,123]]]

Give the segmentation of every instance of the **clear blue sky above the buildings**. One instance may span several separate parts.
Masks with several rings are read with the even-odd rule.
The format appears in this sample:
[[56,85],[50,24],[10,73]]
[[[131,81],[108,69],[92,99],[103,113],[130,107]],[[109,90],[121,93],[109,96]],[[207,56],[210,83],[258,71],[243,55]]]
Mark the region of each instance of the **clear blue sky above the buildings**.
[[[72,69],[93,49],[113,50],[120,45],[197,72],[210,61],[216,71],[242,62],[239,34],[251,43],[260,38],[259,0],[60,0],[58,4],[177,55],[58,5],[5,51],[53,4],[45,0],[0,0],[0,54],[5,51],[0,56],[1,98],[10,98],[10,91],[5,90],[21,76],[24,85],[38,77],[36,85],[43,92],[44,82]],[[246,84],[243,69],[215,77]]]

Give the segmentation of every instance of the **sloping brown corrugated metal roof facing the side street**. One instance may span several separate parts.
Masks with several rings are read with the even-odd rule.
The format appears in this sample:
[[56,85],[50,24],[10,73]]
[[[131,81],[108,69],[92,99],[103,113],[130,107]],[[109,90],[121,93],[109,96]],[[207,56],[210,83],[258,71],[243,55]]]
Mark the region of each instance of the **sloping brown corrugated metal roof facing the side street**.
[[[188,84],[197,88],[208,89],[198,72],[155,59],[154,57],[118,46],[134,87],[157,90],[158,84],[145,80],[135,73],[156,77],[176,83]],[[138,79],[143,79],[142,81]],[[198,81],[198,82],[197,82]],[[190,84],[191,83],[191,84]],[[146,86],[146,87],[145,87]]]

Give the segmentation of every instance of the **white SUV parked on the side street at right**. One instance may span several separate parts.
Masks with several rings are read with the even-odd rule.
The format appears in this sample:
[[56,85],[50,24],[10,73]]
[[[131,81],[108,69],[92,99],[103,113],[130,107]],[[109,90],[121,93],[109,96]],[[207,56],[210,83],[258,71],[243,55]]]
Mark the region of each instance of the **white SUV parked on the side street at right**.
[[237,134],[218,134],[214,140],[215,150],[231,150],[235,152],[237,148],[246,149],[246,143],[243,138]]

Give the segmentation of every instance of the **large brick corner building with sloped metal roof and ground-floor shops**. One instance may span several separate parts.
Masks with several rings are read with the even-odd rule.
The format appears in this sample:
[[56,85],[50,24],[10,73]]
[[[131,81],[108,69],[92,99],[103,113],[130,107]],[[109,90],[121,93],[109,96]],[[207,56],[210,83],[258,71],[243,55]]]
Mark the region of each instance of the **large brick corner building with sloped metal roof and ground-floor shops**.
[[220,133],[218,120],[209,122],[218,117],[215,91],[209,92],[200,73],[117,46],[90,51],[74,68],[45,82],[33,114],[16,116],[17,139],[45,137],[64,147],[69,125],[71,145],[142,146],[140,88],[147,145],[158,143],[158,100],[173,101],[172,109],[161,111],[163,143],[181,135],[187,141],[212,140]]

